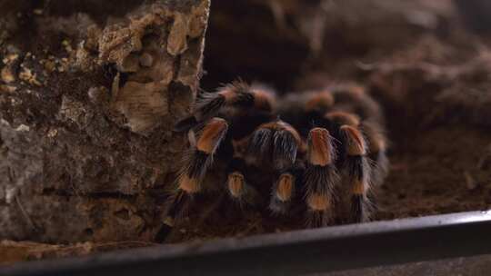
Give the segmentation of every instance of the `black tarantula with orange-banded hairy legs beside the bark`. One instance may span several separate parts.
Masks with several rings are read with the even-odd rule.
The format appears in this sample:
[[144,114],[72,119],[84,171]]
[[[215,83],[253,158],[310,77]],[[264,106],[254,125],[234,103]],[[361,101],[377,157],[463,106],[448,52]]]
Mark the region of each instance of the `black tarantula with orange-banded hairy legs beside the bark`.
[[371,188],[386,176],[384,119],[356,85],[278,99],[260,84],[227,84],[201,94],[175,131],[188,133],[190,148],[161,236],[213,171],[235,202],[255,204],[269,190],[271,212],[300,202],[312,227],[368,220]]

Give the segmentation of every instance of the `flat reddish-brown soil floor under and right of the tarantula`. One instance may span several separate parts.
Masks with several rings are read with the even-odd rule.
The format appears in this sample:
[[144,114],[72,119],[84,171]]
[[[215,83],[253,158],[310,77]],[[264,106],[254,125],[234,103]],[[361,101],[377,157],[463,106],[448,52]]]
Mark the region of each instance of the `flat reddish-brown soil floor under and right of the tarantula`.
[[[491,173],[479,168],[486,159],[491,133],[465,125],[411,133],[393,141],[390,173],[376,192],[374,221],[450,212],[488,210]],[[482,148],[482,152],[471,152]],[[213,196],[210,196],[212,198]],[[226,202],[226,199],[221,198]],[[205,202],[199,214],[186,217],[167,242],[285,232],[305,228],[305,218],[281,218],[269,212]]]

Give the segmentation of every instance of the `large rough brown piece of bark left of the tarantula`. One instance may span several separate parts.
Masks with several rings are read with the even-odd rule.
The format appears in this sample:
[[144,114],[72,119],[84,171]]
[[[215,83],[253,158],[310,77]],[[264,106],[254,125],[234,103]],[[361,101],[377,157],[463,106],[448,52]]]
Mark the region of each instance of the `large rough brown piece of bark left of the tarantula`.
[[0,1],[0,240],[150,241],[209,0]]

